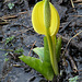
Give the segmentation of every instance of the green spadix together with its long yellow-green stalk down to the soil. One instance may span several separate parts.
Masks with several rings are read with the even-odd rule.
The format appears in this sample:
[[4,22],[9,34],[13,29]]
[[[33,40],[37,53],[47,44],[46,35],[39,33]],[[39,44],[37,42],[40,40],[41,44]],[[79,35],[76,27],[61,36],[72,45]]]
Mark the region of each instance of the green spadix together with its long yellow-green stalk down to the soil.
[[[48,40],[48,47],[49,47],[49,52],[50,52],[50,61],[51,61],[51,66],[54,69],[54,72],[56,75],[59,74],[58,72],[58,63],[56,60],[56,54],[55,54],[55,44],[52,44],[52,39],[49,33],[49,27],[50,27],[50,5],[49,5],[49,0],[45,0],[45,4],[44,4],[44,23],[46,26],[46,37]],[[54,37],[55,38],[55,37]]]

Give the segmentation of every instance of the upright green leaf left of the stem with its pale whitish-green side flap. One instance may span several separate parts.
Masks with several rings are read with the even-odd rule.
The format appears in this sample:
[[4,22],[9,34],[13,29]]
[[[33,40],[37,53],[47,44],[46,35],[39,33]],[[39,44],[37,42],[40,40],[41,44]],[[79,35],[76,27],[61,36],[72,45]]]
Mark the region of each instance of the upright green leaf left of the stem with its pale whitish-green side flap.
[[44,37],[44,47],[36,47],[33,49],[33,51],[35,51],[39,56],[40,60],[50,63],[50,55],[49,55],[48,42],[46,36]]

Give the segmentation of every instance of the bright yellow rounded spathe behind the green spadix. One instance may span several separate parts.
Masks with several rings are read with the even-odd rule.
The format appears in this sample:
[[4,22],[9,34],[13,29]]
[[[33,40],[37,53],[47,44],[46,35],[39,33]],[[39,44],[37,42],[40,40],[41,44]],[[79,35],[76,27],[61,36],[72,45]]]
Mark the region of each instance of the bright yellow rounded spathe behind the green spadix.
[[[33,12],[32,12],[32,23],[34,30],[38,34],[44,34],[46,35],[46,27],[44,24],[44,3],[45,1],[39,1],[38,3],[35,4]],[[60,25],[60,20],[59,20],[59,14],[55,7],[49,2],[50,4],[50,36],[56,35],[59,30]]]

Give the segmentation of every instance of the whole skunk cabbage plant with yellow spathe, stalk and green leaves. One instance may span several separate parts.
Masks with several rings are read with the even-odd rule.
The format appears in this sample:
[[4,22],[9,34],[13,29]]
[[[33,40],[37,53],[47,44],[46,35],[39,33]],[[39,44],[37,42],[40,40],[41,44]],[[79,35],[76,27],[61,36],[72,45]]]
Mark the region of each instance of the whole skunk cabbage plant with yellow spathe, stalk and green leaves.
[[23,55],[20,59],[51,81],[54,74],[59,74],[61,37],[56,38],[60,20],[56,8],[49,0],[43,0],[35,4],[32,12],[32,23],[36,33],[45,35],[44,47],[33,49],[39,58]]

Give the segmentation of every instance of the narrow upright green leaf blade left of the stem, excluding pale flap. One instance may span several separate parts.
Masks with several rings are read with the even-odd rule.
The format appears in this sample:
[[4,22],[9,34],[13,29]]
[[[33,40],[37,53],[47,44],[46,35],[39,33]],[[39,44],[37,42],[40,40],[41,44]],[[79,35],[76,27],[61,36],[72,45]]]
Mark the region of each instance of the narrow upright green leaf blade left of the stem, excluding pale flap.
[[48,42],[46,36],[44,37],[44,61],[50,63],[50,55],[49,55]]

